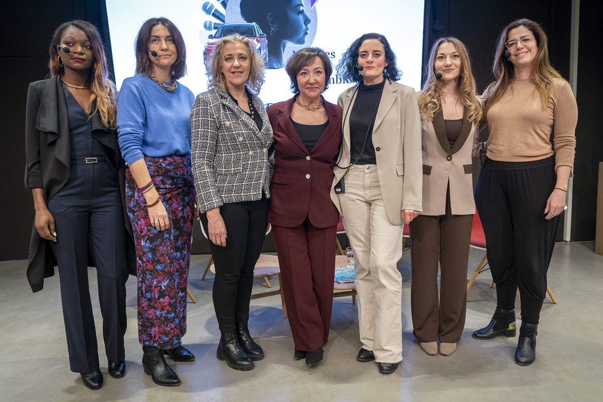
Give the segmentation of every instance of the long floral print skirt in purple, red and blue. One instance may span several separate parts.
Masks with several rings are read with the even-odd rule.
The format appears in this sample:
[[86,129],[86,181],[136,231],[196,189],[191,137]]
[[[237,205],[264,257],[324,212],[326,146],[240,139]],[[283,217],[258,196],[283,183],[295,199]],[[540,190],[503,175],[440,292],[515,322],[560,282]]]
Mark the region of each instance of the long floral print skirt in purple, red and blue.
[[195,186],[190,155],[145,156],[169,228],[151,226],[145,198],[130,169],[125,201],[134,231],[138,271],[138,337],[143,346],[172,349],[186,333],[186,289],[195,222]]

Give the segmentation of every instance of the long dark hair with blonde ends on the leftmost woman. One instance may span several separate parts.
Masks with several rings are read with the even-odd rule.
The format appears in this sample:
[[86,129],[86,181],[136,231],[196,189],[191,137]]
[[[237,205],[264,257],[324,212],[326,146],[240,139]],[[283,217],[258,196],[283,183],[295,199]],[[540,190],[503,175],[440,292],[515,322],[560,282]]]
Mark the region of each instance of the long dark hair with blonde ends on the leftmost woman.
[[109,80],[109,69],[107,69],[107,60],[105,58],[105,46],[103,45],[103,40],[101,40],[101,35],[98,33],[98,29],[96,29],[94,25],[83,20],[73,20],[61,24],[54,31],[50,43],[50,62],[48,63],[51,77],[63,74],[64,72],[63,67],[58,63],[60,54],[58,53],[57,46],[61,45],[61,37],[68,28],[78,28],[83,31],[90,40],[92,54],[94,55],[94,63],[92,63],[92,68],[90,68],[90,77],[88,80],[90,90],[92,90],[90,104],[95,105],[95,109],[91,112],[92,114],[98,113],[101,121],[106,127],[115,129],[117,128],[115,84]]

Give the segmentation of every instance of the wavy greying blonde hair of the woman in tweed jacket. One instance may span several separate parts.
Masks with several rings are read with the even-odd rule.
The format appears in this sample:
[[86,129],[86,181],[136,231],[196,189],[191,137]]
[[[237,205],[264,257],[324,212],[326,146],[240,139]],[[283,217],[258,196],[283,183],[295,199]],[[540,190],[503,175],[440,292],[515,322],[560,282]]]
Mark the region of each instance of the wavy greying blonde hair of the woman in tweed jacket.
[[247,48],[250,67],[246,84],[251,92],[257,95],[260,93],[260,89],[262,89],[262,84],[264,84],[264,60],[257,55],[251,44],[251,40],[239,34],[225,36],[216,43],[216,47],[213,49],[213,54],[207,65],[207,74],[209,75],[209,83],[207,86],[209,89],[216,88],[223,92],[228,92],[226,78],[224,78],[224,74],[220,71],[222,66],[222,52],[227,43],[242,43],[242,45]]

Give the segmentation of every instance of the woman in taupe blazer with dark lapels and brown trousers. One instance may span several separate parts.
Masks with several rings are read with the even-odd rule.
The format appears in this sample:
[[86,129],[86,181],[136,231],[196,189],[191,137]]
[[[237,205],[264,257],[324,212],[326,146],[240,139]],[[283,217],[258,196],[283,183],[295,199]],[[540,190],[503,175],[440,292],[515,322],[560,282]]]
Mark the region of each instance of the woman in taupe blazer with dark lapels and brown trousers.
[[[455,37],[431,48],[417,93],[423,134],[423,212],[410,224],[413,333],[426,353],[456,350],[465,325],[467,263],[475,203],[472,155],[482,102],[467,48]],[[438,303],[438,255],[440,297]]]

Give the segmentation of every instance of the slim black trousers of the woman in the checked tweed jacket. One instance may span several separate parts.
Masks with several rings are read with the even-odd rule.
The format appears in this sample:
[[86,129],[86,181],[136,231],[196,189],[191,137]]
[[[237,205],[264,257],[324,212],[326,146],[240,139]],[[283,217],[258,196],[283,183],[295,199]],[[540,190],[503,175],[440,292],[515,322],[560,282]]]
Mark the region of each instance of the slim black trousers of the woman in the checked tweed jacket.
[[[224,204],[220,215],[226,225],[226,247],[209,241],[216,277],[213,309],[222,332],[236,329],[236,322],[249,320],[253,269],[262,252],[268,225],[268,199]],[[207,233],[207,216],[201,215]]]

